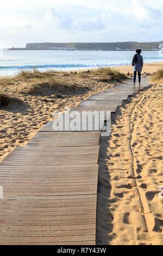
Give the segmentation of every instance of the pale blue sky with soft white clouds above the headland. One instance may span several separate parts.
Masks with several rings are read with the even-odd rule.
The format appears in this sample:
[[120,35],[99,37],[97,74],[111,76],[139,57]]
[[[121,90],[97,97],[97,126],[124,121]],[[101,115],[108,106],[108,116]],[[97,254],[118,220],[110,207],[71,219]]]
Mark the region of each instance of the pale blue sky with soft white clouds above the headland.
[[161,41],[162,21],[162,0],[0,0],[0,48]]

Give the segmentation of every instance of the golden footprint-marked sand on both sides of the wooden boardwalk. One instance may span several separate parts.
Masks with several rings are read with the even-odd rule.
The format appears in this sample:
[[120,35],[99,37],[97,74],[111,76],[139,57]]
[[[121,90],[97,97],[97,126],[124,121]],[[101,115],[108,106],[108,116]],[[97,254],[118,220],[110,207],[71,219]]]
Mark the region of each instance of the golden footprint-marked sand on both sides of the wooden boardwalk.
[[[143,72],[152,74],[159,68],[163,63],[145,64]],[[114,69],[124,74],[133,70],[131,66]],[[62,92],[57,89],[49,95],[46,83],[40,87],[27,77],[23,82],[4,80],[5,86],[1,81],[1,92],[15,99],[0,109],[0,161],[17,145],[26,145],[53,120],[54,111],[63,112],[65,107],[77,106],[90,95],[120,83],[96,71],[61,74],[57,79],[67,81],[68,87],[66,84]],[[153,82],[150,88],[123,101],[112,114],[111,136],[101,138],[98,245],[162,244],[162,84]]]

